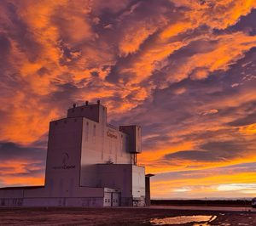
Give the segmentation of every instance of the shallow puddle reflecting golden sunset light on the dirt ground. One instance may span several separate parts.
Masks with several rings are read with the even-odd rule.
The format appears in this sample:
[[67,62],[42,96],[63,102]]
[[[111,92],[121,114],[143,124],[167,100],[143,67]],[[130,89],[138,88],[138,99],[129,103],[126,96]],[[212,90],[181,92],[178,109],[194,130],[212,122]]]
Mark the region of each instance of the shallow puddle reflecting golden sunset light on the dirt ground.
[[[203,215],[197,215],[197,216],[180,216],[180,217],[174,217],[174,218],[154,218],[150,220],[150,223],[153,223],[154,225],[165,225],[165,224],[183,224],[183,223],[200,223],[200,224],[194,224],[196,225],[208,225],[206,223],[209,223],[213,220],[215,220],[217,216],[203,216]],[[205,223],[205,224],[202,224]]]

